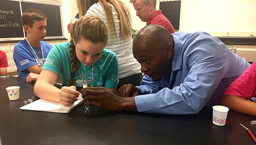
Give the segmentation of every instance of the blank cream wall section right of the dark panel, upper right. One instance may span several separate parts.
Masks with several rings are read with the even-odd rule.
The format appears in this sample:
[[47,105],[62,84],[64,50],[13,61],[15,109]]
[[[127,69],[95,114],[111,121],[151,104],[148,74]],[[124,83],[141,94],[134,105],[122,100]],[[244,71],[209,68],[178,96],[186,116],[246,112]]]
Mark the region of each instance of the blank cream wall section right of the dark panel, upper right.
[[181,0],[179,31],[255,36],[255,6],[256,0]]

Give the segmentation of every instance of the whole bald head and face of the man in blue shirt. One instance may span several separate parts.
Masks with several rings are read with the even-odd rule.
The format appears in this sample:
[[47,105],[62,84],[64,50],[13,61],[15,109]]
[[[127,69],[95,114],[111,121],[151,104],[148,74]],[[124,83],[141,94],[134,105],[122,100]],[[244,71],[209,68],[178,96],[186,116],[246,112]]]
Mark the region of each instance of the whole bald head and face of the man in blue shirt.
[[132,51],[141,71],[153,81],[159,81],[165,73],[172,72],[173,46],[172,35],[166,28],[147,25],[134,39]]

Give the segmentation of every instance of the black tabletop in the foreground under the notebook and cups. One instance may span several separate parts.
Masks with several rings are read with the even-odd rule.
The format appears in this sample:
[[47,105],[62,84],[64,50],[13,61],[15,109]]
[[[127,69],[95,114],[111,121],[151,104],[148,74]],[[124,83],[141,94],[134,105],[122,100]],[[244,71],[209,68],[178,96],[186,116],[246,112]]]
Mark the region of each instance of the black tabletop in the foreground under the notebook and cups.
[[[4,85],[2,85],[2,83]],[[69,114],[20,110],[34,96],[34,83],[0,78],[0,145],[253,145],[255,116],[230,110],[224,126],[212,124],[212,107],[196,115],[108,112],[80,105]],[[9,85],[8,85],[9,84]],[[7,86],[20,86],[20,99],[8,98]],[[33,101],[39,99],[35,97]]]

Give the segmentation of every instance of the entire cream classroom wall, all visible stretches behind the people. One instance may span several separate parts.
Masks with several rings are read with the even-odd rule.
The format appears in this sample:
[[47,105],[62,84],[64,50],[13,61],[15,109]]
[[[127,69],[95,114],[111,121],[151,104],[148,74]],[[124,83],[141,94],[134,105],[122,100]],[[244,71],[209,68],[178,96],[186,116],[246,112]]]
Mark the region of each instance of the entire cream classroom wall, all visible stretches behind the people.
[[[29,0],[35,2],[61,3],[64,37],[70,39],[67,24],[78,13],[76,0]],[[133,29],[145,27],[136,16],[130,0],[122,0],[131,11]],[[157,10],[160,1],[157,0]],[[187,32],[207,31],[213,36],[256,36],[256,0],[181,0],[180,30]]]

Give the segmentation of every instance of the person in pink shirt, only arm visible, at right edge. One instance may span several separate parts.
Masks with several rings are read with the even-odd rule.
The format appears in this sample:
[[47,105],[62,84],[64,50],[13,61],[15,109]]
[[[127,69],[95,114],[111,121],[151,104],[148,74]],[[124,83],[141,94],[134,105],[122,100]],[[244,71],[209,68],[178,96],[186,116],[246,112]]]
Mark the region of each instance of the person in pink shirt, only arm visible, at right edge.
[[223,92],[219,104],[229,109],[256,116],[256,61]]

